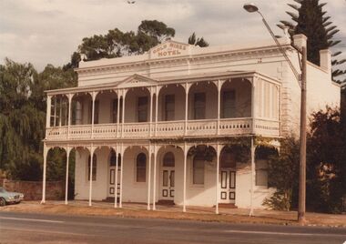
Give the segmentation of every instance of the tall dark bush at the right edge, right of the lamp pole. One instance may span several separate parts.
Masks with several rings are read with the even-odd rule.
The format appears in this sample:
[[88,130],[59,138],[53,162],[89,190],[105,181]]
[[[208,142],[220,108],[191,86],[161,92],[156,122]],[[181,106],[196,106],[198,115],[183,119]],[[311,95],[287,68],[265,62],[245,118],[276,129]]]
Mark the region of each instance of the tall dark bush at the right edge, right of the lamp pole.
[[307,198],[309,207],[340,212],[346,194],[346,128],[340,110],[326,107],[312,115],[308,137]]

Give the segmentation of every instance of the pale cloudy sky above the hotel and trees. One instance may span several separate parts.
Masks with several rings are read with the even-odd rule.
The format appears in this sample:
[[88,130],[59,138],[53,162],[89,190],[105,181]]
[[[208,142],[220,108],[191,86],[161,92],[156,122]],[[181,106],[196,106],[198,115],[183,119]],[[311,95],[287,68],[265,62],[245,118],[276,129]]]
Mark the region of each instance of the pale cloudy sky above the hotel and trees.
[[[32,63],[38,71],[47,64],[63,66],[83,37],[107,34],[109,29],[136,31],[145,19],[157,19],[176,30],[175,40],[187,42],[196,32],[210,46],[269,39],[260,15],[242,6],[247,0],[0,0],[0,64],[5,57]],[[336,39],[346,58],[346,0],[323,0],[324,10],[340,29]],[[274,33],[293,0],[252,0]],[[293,10],[292,10],[293,11]],[[294,11],[293,11],[294,12]]]

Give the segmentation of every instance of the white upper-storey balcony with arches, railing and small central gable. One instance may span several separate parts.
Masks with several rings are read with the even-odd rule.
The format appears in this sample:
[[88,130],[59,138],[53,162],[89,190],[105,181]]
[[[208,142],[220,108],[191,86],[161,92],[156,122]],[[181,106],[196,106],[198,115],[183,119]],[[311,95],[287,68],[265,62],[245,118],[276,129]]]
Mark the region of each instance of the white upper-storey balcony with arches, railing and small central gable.
[[46,140],[280,137],[280,83],[255,72],[47,92]]

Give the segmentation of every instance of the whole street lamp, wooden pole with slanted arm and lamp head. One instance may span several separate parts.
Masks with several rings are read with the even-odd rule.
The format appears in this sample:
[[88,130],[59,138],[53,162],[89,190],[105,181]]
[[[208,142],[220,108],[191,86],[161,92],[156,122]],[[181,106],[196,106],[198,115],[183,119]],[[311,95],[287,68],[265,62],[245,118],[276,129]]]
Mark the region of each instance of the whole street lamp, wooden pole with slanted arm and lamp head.
[[298,206],[298,221],[301,225],[306,222],[305,219],[305,198],[306,198],[306,81],[307,81],[307,49],[306,46],[302,46],[301,50],[301,68],[300,73],[290,62],[290,58],[287,56],[285,50],[280,45],[278,38],[274,35],[270,29],[264,16],[260,13],[259,7],[254,4],[246,4],[243,6],[249,13],[257,12],[262,17],[264,25],[266,25],[270,36],[274,39],[276,45],[279,47],[282,56],[285,57],[286,61],[290,65],[294,76],[296,76],[300,83],[301,97],[300,97],[300,193],[299,193],[299,206]]

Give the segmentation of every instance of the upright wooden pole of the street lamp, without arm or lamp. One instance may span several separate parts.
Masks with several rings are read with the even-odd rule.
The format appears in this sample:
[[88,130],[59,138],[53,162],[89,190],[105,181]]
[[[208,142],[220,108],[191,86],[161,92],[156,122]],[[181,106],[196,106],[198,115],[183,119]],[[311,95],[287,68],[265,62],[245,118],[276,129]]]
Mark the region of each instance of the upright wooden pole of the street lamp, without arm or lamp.
[[306,222],[306,83],[307,83],[307,48],[302,46],[301,60],[301,101],[300,101],[300,195],[298,205],[298,221]]

